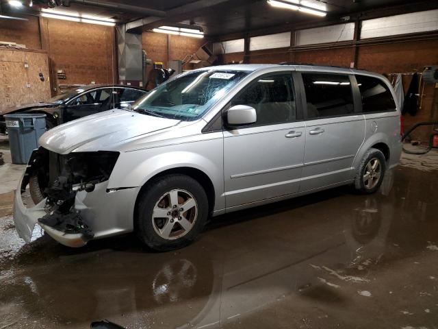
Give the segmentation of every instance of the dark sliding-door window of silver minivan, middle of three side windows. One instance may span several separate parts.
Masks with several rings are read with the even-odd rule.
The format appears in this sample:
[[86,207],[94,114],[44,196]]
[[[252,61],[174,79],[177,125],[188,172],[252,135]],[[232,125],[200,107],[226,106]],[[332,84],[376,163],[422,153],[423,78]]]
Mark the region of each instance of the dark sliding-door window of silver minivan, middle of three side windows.
[[342,74],[302,73],[307,99],[307,119],[353,114],[350,77]]

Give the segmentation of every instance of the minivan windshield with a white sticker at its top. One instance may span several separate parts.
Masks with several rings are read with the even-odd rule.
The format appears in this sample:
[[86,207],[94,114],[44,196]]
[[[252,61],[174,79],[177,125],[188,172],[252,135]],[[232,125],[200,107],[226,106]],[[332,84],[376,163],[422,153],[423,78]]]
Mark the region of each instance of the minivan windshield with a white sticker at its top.
[[230,70],[193,71],[161,84],[133,103],[144,114],[191,121],[202,117],[249,72]]

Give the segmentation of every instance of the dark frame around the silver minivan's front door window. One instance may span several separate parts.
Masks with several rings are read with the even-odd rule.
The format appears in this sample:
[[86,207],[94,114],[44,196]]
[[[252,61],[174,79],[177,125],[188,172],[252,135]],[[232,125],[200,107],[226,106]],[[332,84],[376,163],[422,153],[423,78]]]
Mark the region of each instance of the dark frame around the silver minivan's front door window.
[[[227,126],[227,112],[229,108],[231,108],[231,103],[233,102],[233,99],[239,97],[242,93],[246,91],[246,89],[253,84],[254,82],[257,82],[258,80],[261,80],[265,77],[272,77],[272,75],[290,75],[292,78],[292,93],[294,93],[295,98],[295,108],[296,108],[296,119],[294,121],[287,121],[287,122],[278,122],[278,123],[270,123],[270,124],[257,124],[251,123],[250,125],[233,125],[233,126]],[[302,115],[302,103],[301,103],[301,90],[298,86],[297,81],[297,75],[296,71],[272,71],[269,73],[263,73],[262,75],[258,75],[257,77],[254,77],[253,80],[250,80],[245,86],[242,86],[242,88],[233,96],[233,98],[220,110],[220,117],[222,120],[222,130],[237,130],[237,129],[244,129],[244,128],[254,128],[254,127],[270,127],[273,125],[285,125],[287,123],[295,123],[304,121],[304,117]],[[218,118],[217,116],[214,117],[212,121],[216,121]],[[216,130],[217,131],[217,130]],[[208,131],[205,131],[208,132]]]

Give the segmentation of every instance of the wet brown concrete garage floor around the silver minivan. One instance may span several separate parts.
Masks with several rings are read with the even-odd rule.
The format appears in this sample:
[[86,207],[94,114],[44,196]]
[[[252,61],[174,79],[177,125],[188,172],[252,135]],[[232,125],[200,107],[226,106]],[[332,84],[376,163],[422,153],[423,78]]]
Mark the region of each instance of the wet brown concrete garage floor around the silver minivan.
[[162,254],[132,235],[25,245],[6,191],[22,169],[0,166],[0,329],[438,328],[437,152],[404,156],[375,195],[235,212]]

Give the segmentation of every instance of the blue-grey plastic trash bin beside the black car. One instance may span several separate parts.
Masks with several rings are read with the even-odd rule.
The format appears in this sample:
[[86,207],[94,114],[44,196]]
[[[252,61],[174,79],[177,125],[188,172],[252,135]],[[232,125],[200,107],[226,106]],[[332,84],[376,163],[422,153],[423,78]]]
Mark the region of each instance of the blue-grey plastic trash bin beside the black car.
[[46,114],[5,114],[12,163],[27,164],[46,132]]

